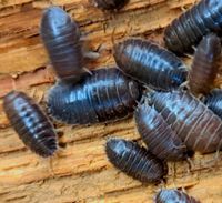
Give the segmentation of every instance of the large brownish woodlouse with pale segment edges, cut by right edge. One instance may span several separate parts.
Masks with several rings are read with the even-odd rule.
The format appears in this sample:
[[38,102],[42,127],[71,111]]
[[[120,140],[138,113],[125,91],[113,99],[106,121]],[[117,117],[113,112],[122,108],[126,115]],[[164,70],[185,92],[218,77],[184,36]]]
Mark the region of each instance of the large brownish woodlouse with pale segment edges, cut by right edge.
[[221,149],[222,120],[191,93],[153,92],[150,97],[189,150],[210,153]]

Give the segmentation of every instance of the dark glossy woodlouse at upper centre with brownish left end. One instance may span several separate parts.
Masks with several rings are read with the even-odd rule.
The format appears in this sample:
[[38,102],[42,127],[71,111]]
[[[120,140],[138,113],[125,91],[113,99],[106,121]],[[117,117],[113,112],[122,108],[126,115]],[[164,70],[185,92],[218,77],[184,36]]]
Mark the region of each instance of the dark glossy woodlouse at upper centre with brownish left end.
[[185,65],[176,55],[145,40],[114,45],[114,59],[125,74],[158,90],[176,89],[186,80]]

